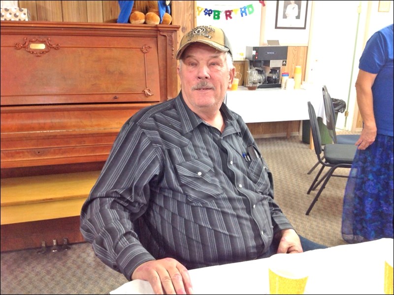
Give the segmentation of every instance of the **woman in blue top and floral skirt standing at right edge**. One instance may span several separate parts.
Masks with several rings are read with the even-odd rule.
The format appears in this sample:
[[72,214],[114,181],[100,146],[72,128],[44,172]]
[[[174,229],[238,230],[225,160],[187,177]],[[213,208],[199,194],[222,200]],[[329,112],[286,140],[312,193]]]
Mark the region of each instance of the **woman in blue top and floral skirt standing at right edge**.
[[346,184],[342,237],[349,243],[393,238],[393,28],[374,33],[356,81],[363,129]]

